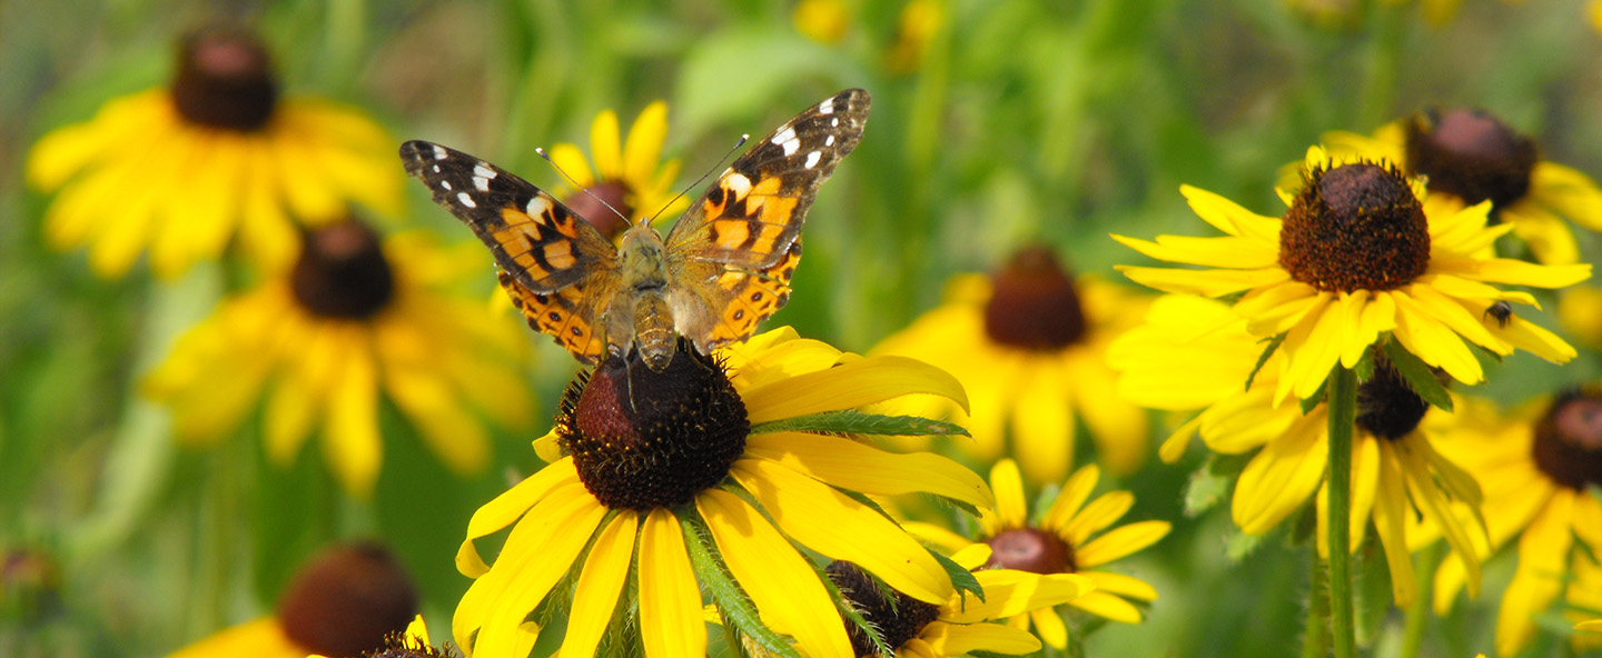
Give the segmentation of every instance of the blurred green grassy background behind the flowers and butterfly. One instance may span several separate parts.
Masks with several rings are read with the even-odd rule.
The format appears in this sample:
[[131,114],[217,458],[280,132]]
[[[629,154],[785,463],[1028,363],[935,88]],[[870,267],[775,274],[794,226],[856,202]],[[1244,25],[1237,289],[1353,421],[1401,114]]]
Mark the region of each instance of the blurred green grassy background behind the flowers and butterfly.
[[[1110,275],[1139,256],[1109,232],[1208,234],[1181,183],[1277,215],[1278,167],[1320,133],[1367,133],[1431,104],[1485,107],[1533,134],[1546,160],[1602,175],[1602,35],[1580,0],[1466,0],[1442,22],[1416,3],[1362,0],[953,0],[928,3],[937,21],[923,38],[899,29],[905,2],[839,5],[844,32],[830,42],[803,32],[793,3],[758,0],[0,0],[0,551],[42,556],[53,573],[32,610],[0,605],[0,653],[11,642],[162,655],[268,610],[301,559],[349,536],[396,548],[444,637],[469,583],[450,559],[466,519],[538,466],[527,442],[548,423],[497,435],[497,466],[465,482],[386,408],[384,472],[364,503],[338,493],[316,450],[288,471],[268,466],[260,423],[218,450],[179,450],[162,411],[133,394],[210,311],[216,279],[95,279],[82,253],[43,247],[50,199],[24,187],[22,163],[43,133],[167,83],[176,38],[213,21],[255,26],[288,94],[359,106],[397,144],[455,146],[548,187],[561,178],[533,149],[588,150],[590,122],[607,107],[626,128],[666,99],[666,154],[684,162],[686,186],[740,133],[867,88],[867,136],[823,187],[791,303],[769,322],[857,352],[932,307],[952,274],[988,271],[1025,242]],[[407,194],[405,226],[473,240],[421,186],[409,181]],[[1581,248],[1594,261],[1596,235]],[[489,298],[489,269],[481,283]],[[529,339],[538,416],[549,418],[575,363]],[[1520,355],[1503,371],[1482,389],[1515,402],[1596,379],[1599,367],[1594,355],[1567,368]],[[1299,647],[1306,548],[1280,532],[1232,562],[1246,543],[1227,512],[1185,516],[1197,466],[1195,451],[1177,466],[1153,458],[1120,483],[1139,500],[1131,519],[1176,528],[1125,564],[1161,592],[1149,621],[1099,629],[1088,655]],[[1205,495],[1198,482],[1190,496]],[[1383,564],[1370,551],[1360,568]],[[1511,560],[1488,573],[1491,596],[1437,621],[1429,655],[1488,647]],[[1383,573],[1368,588],[1384,594]],[[1365,615],[1379,655],[1394,650],[1397,613]],[[1532,648],[1546,652],[1557,648]]]

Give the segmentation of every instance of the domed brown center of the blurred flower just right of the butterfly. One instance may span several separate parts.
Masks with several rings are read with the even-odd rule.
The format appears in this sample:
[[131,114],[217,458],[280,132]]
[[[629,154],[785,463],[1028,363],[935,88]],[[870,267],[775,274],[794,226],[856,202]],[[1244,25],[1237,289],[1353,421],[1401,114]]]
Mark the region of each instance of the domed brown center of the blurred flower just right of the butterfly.
[[1073,279],[1045,247],[1025,247],[995,275],[985,303],[985,335],[1004,346],[1057,351],[1085,335]]

